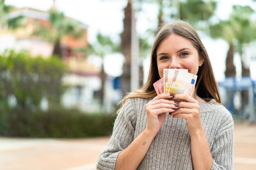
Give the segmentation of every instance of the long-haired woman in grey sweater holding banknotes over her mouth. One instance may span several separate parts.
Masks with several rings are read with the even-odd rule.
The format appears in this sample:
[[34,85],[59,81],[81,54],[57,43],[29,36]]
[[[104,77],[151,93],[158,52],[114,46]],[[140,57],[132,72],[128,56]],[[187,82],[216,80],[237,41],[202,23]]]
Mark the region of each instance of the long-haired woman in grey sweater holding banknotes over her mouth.
[[[164,68],[198,75],[193,95],[157,95],[153,83]],[[207,51],[189,24],[176,21],[159,29],[148,79],[123,99],[97,169],[231,170],[233,133]]]

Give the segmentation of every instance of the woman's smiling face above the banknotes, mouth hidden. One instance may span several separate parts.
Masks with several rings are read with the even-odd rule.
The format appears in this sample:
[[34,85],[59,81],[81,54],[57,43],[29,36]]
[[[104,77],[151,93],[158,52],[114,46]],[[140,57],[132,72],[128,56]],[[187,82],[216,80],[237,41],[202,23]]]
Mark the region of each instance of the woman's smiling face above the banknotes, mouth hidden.
[[169,35],[157,48],[157,67],[161,78],[164,68],[188,69],[190,73],[197,74],[203,62],[191,41],[180,35]]

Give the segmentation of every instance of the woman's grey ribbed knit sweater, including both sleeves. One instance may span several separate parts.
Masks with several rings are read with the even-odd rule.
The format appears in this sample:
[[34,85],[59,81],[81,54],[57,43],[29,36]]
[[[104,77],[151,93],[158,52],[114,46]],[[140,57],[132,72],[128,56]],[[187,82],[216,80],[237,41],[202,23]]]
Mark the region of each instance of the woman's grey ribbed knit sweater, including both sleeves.
[[[130,98],[123,107],[105,150],[97,160],[98,170],[114,170],[118,154],[146,128],[145,105],[152,98]],[[212,170],[233,169],[234,122],[225,107],[216,103],[200,103],[200,117],[213,157]],[[138,170],[192,170],[191,140],[186,120],[166,119]]]

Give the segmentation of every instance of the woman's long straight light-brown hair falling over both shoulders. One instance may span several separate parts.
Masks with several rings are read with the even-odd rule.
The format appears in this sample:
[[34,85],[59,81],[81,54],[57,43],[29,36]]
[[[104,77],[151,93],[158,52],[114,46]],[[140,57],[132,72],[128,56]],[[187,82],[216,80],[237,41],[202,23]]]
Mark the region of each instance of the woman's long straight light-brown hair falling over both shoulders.
[[128,93],[120,103],[124,104],[128,98],[152,98],[157,95],[153,87],[153,83],[160,79],[157,68],[156,51],[159,44],[171,34],[180,35],[189,39],[197,49],[199,56],[204,59],[204,63],[199,67],[197,74],[198,80],[195,85],[195,92],[197,92],[197,95],[201,98],[213,98],[216,102],[222,104],[218,84],[213,75],[213,69],[207,51],[195,29],[181,20],[164,24],[159,28],[151,52],[150,69],[146,83],[137,91]]

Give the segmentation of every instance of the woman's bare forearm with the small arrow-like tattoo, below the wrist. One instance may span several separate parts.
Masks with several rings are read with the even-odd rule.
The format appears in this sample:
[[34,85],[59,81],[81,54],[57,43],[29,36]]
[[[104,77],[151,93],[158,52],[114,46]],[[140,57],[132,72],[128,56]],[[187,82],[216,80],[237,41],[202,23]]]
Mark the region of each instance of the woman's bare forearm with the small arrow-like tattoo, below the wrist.
[[155,134],[145,129],[117,157],[115,170],[136,170],[146,155]]

